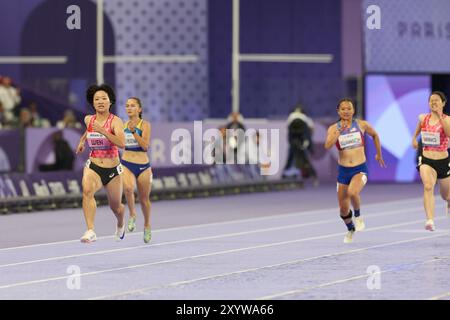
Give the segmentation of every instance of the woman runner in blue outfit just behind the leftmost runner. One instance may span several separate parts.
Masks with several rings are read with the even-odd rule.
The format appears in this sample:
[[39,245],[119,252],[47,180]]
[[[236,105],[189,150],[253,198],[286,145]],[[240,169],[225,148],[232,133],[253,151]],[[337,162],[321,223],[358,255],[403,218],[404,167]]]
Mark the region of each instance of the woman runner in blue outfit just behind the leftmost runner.
[[138,98],[127,100],[126,112],[129,120],[125,123],[125,152],[122,155],[124,166],[123,185],[130,218],[128,231],[136,228],[136,208],[134,202],[134,188],[137,184],[139,202],[144,214],[144,242],[149,243],[152,238],[150,226],[150,191],[152,186],[152,168],[147,150],[150,145],[151,126],[142,119],[142,105]]

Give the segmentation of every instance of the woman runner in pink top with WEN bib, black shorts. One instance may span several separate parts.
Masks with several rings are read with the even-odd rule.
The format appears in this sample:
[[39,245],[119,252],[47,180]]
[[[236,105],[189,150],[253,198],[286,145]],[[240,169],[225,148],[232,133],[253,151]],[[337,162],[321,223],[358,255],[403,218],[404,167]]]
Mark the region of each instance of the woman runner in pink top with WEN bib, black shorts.
[[114,90],[108,85],[92,85],[86,91],[86,99],[95,110],[95,115],[88,115],[84,122],[87,130],[80,139],[77,153],[83,152],[87,140],[90,154],[83,171],[83,211],[87,231],[81,242],[97,240],[94,232],[96,202],[94,195],[102,186],[108,194],[111,210],[117,218],[115,238],[120,241],[125,236],[124,212],[122,201],[122,165],[118,148],[125,147],[123,122],[110,113],[115,103]]

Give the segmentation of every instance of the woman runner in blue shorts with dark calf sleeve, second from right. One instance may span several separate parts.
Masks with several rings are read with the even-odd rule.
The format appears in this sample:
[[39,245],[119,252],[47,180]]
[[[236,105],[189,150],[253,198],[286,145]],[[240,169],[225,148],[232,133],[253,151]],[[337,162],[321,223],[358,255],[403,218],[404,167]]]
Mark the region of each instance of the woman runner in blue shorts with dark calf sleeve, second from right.
[[[347,226],[344,243],[353,241],[353,233],[365,228],[361,217],[360,192],[367,183],[368,169],[364,152],[364,133],[367,132],[375,143],[377,154],[375,159],[381,167],[385,167],[381,155],[380,138],[372,126],[363,120],[353,119],[355,107],[352,100],[342,99],[337,105],[339,121],[328,128],[325,148],[330,149],[336,145],[339,150],[337,193],[339,209],[342,220]],[[350,202],[355,211],[355,225],[353,224],[353,212],[350,210]]]

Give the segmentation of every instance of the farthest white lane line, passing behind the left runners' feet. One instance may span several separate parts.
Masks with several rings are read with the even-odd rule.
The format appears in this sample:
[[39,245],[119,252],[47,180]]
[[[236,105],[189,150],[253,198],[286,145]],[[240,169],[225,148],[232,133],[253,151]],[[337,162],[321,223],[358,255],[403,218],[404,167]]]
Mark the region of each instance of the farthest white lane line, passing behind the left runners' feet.
[[[406,200],[395,200],[391,202],[383,202],[383,203],[371,203],[364,205],[364,211],[367,209],[373,208],[373,207],[379,207],[380,205],[399,205],[399,204],[411,204],[414,202],[418,202],[420,199],[417,198],[411,198]],[[436,208],[440,208],[439,205],[436,206]],[[413,209],[413,208],[411,208]],[[417,209],[417,208],[416,208]],[[222,222],[212,222],[212,223],[204,223],[204,224],[196,224],[196,225],[189,225],[189,226],[183,226],[183,227],[174,227],[174,228],[166,228],[166,229],[159,229],[152,231],[153,233],[159,233],[159,232],[169,232],[169,231],[180,231],[180,230],[187,230],[187,229],[196,229],[196,228],[204,228],[204,227],[212,227],[212,226],[222,226],[222,225],[228,225],[228,224],[236,224],[236,223],[247,223],[247,222],[256,222],[256,221],[264,221],[264,220],[272,220],[272,219],[279,219],[279,218],[289,218],[289,217],[295,217],[295,216],[303,216],[303,215],[309,215],[309,214],[318,214],[323,212],[330,212],[330,211],[336,211],[336,207],[332,208],[326,208],[326,209],[320,209],[320,210],[311,210],[311,211],[297,211],[297,212],[291,212],[291,213],[281,213],[281,214],[275,214],[265,217],[258,217],[258,218],[248,218],[248,219],[236,219],[236,220],[229,220],[229,221],[222,221]],[[364,216],[370,216],[370,215],[364,215]],[[142,232],[137,233],[127,233],[127,236],[137,236],[142,235]],[[97,237],[97,239],[111,239],[114,236],[103,236],[103,237]],[[28,249],[28,248],[36,248],[41,246],[49,246],[49,245],[56,245],[56,244],[66,244],[66,243],[79,243],[80,240],[65,240],[65,241],[56,241],[56,242],[48,242],[48,243],[38,243],[38,244],[32,244],[32,245],[26,245],[26,246],[18,246],[18,247],[9,247],[9,248],[2,248],[0,249],[0,252],[2,251],[9,251],[9,250],[16,250],[16,249]]]

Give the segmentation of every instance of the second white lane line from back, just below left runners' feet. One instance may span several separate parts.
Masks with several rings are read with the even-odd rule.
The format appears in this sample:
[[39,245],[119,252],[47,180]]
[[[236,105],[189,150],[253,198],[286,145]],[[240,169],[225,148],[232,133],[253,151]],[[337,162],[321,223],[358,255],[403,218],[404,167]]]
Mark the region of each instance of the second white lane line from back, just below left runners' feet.
[[[400,209],[400,210],[384,211],[383,213],[379,213],[379,214],[366,215],[366,217],[373,217],[373,218],[386,217],[386,216],[391,216],[391,215],[396,215],[396,214],[399,214],[399,213],[411,212],[411,211],[414,211],[414,209],[404,208],[404,209]],[[319,220],[319,221],[315,221],[315,222],[299,223],[299,224],[280,226],[280,227],[255,229],[255,230],[251,230],[251,231],[225,233],[225,234],[219,234],[219,235],[215,235],[215,236],[206,236],[206,237],[199,237],[199,238],[167,241],[167,242],[152,244],[152,247],[154,247],[154,246],[173,245],[173,244],[180,244],[180,243],[188,243],[188,242],[202,241],[202,240],[222,239],[222,238],[236,237],[236,236],[242,236],[242,235],[262,233],[262,232],[294,229],[294,228],[300,228],[300,227],[309,227],[309,226],[313,226],[313,225],[321,225],[321,224],[327,224],[327,223],[336,223],[337,221],[338,221],[338,218],[334,218],[334,219]],[[423,232],[423,230],[422,230],[422,232]],[[0,268],[14,267],[14,266],[20,266],[20,265],[25,265],[25,264],[32,264],[32,263],[39,263],[39,262],[48,262],[48,261],[55,261],[55,260],[63,260],[63,259],[70,259],[70,258],[77,258],[77,257],[92,256],[92,255],[97,255],[97,254],[124,252],[124,251],[136,250],[136,249],[146,248],[146,247],[149,247],[149,245],[140,245],[140,246],[126,247],[126,248],[119,248],[119,249],[110,249],[110,250],[99,250],[99,251],[88,252],[88,253],[71,254],[71,255],[66,255],[66,256],[56,256],[56,257],[50,257],[50,258],[44,258],[44,259],[21,261],[21,262],[3,264],[3,265],[0,265]]]

